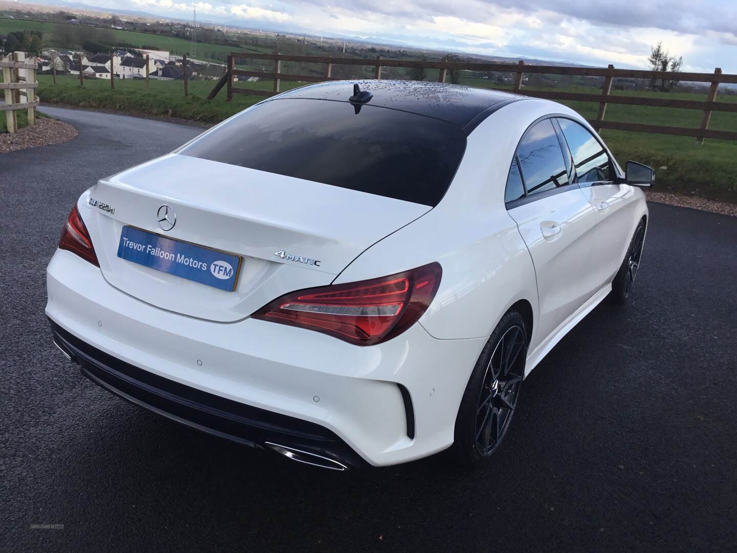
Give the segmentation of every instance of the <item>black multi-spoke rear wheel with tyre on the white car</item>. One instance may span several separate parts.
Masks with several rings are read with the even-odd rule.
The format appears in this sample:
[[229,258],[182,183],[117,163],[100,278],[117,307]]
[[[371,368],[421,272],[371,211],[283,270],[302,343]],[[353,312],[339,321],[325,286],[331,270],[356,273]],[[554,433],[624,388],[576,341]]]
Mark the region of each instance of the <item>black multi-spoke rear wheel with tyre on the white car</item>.
[[502,441],[520,397],[528,338],[520,313],[499,321],[476,362],[455,420],[453,461],[484,465]]

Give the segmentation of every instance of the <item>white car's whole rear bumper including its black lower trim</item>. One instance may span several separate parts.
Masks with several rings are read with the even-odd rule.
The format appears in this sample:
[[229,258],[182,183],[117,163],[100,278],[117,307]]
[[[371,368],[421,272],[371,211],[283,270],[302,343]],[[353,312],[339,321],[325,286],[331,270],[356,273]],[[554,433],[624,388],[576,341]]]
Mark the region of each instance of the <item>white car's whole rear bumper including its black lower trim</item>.
[[117,290],[69,251],[56,252],[46,283],[57,343],[96,383],[212,434],[346,465],[394,465],[453,443],[486,341],[437,340],[415,324],[358,347],[268,321],[203,321]]

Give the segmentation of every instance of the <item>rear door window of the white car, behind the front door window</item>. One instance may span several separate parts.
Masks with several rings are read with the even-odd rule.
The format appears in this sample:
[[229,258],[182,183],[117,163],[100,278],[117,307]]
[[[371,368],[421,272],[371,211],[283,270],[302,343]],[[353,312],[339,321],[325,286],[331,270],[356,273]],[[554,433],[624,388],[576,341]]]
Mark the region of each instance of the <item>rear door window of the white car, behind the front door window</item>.
[[517,147],[517,159],[528,195],[568,184],[563,152],[550,119],[540,121],[525,134]]

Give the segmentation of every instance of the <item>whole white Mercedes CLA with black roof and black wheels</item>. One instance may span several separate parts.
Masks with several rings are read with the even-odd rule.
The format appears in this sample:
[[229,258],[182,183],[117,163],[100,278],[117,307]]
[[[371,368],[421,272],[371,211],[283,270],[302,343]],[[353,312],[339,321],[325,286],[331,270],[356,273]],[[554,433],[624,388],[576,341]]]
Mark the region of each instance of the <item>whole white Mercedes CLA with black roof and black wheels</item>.
[[653,179],[555,102],[305,86],[84,192],[46,315],[85,376],[211,434],[335,470],[474,466],[523,378],[626,300]]

